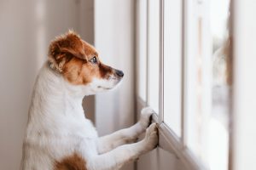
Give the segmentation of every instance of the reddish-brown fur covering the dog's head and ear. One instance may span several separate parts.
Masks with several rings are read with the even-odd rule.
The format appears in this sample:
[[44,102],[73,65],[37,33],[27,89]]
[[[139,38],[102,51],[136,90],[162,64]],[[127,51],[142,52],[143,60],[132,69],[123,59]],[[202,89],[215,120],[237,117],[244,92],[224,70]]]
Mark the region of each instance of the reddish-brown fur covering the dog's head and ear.
[[[96,57],[97,63],[90,63]],[[55,70],[72,84],[82,85],[92,81],[93,77],[108,78],[114,71],[108,65],[103,65],[98,58],[96,49],[84,42],[73,31],[56,37],[49,45],[49,61]]]

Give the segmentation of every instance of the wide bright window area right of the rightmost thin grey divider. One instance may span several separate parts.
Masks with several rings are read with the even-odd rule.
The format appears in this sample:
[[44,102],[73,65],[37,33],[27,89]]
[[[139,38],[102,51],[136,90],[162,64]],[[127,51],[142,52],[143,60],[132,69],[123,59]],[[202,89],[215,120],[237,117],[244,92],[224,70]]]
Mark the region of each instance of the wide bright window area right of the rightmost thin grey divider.
[[228,169],[229,0],[189,2],[186,139],[210,169]]

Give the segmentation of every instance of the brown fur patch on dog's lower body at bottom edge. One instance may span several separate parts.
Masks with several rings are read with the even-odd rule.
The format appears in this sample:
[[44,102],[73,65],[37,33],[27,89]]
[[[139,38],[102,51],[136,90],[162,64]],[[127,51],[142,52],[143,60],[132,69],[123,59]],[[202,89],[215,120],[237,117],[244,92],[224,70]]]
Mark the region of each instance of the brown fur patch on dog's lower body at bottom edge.
[[55,161],[55,170],[87,170],[86,161],[77,153],[74,153],[73,156]]

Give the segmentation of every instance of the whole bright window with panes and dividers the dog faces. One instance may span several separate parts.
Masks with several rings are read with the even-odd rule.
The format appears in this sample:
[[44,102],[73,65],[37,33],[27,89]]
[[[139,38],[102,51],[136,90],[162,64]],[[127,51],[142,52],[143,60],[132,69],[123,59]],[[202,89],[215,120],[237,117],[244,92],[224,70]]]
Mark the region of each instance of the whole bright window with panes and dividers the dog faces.
[[137,4],[139,108],[188,167],[228,169],[230,0]]

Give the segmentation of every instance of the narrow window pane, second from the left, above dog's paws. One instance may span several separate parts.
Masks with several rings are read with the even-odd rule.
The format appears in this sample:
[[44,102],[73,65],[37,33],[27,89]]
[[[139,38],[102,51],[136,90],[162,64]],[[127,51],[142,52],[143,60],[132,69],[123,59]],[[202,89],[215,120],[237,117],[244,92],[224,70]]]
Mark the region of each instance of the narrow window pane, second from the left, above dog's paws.
[[159,111],[160,1],[148,1],[148,105]]

